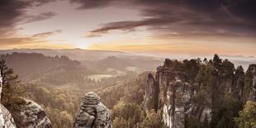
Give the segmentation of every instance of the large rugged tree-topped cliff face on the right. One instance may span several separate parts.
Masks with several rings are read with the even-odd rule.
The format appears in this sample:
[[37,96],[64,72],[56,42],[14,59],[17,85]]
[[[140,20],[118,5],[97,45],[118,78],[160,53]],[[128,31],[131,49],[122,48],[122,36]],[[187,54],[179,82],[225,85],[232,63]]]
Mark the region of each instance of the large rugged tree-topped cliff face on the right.
[[[231,69],[224,71],[212,69],[210,76],[207,76],[211,77],[211,86],[206,88],[201,83],[188,80],[187,72],[191,72],[183,67],[181,69],[173,67],[175,66],[159,66],[155,77],[149,74],[145,88],[145,110],[163,111],[164,124],[170,128],[186,127],[190,118],[197,119],[199,121],[197,124],[210,125],[212,118],[216,117],[216,112],[214,112],[216,107],[225,102],[224,97],[228,93],[240,102],[241,107],[247,100],[255,101],[256,65],[250,65],[246,73],[246,75],[250,73],[247,77],[251,82],[248,85],[249,88],[244,85],[246,75],[243,69],[237,69],[235,72],[231,72]],[[194,75],[197,76],[197,73]],[[201,88],[206,88],[203,90],[205,92],[202,92]],[[248,90],[249,96],[246,94]]]

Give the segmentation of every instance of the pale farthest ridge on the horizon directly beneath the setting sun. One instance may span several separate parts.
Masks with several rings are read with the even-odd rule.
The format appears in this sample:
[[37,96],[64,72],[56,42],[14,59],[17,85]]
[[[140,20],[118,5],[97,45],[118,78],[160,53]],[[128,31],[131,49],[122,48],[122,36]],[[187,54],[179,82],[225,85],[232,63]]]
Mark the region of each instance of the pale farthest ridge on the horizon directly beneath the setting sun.
[[0,55],[18,53],[40,53],[46,56],[65,55],[69,59],[76,60],[99,60],[105,59],[108,56],[130,56],[125,52],[111,50],[82,50],[82,49],[13,49],[0,50]]

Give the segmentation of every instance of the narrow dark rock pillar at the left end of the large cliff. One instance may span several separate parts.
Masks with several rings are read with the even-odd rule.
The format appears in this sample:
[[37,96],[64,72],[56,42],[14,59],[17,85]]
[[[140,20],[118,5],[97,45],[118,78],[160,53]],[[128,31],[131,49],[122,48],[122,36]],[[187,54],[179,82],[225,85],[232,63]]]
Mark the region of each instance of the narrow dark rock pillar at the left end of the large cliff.
[[153,74],[149,73],[145,88],[145,110],[157,111],[159,105],[159,84],[154,80]]

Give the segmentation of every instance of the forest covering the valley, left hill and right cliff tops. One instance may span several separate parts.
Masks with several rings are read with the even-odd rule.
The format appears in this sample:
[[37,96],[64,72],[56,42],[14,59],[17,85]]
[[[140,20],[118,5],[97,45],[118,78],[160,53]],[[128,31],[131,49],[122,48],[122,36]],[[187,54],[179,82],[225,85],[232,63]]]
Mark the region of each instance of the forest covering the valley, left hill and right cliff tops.
[[[30,59],[30,64],[33,63],[33,65],[22,64],[24,61],[21,59],[24,60],[30,55],[35,59],[41,58],[41,61]],[[14,59],[15,56],[19,56],[17,58],[20,60]],[[2,55],[1,59],[1,74],[4,76],[2,104],[8,108],[15,108],[17,103],[22,102],[19,98],[21,96],[38,102],[45,108],[54,128],[73,126],[73,119],[85,92],[96,92],[101,97],[102,103],[111,110],[113,127],[166,127],[162,119],[163,111],[145,111],[144,109],[145,84],[148,74],[155,74],[155,71],[130,73],[95,82],[83,78],[85,74],[93,73],[93,70],[66,56],[46,57],[14,53]],[[15,63],[18,64],[10,63],[9,65],[10,59],[16,60]],[[47,67],[48,65],[50,67]],[[16,66],[24,69],[21,70]],[[244,71],[242,66],[235,68],[228,59],[220,59],[218,55],[213,59],[198,58],[182,61],[165,59],[163,66],[183,72],[183,81],[187,83],[198,83],[195,88],[197,95],[192,100],[209,106],[213,110],[210,124],[200,124],[196,118],[189,118],[186,127],[249,128],[256,126],[256,102],[248,100],[253,89],[254,73],[250,70],[253,67],[249,67],[247,71]],[[12,68],[19,70],[16,72]],[[35,74],[34,72],[43,74],[31,75],[33,77],[28,75]],[[21,78],[18,78],[17,73]],[[224,84],[215,83],[215,76],[224,81]],[[22,78],[25,82],[22,82]],[[241,82],[244,82],[244,87],[240,87],[243,95],[236,92],[238,88],[232,86],[227,88],[227,85],[233,82],[230,79],[234,78],[241,78]]]

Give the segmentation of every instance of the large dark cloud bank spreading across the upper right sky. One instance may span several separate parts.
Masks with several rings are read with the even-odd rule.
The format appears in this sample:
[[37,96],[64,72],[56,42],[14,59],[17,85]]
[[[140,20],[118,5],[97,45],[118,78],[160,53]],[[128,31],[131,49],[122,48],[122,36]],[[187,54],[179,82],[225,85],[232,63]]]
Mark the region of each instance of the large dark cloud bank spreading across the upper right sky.
[[79,3],[79,9],[114,6],[141,10],[141,17],[144,18],[140,21],[109,22],[90,31],[88,37],[101,36],[113,30],[135,30],[140,26],[145,26],[156,33],[178,31],[184,33],[183,35],[193,35],[194,31],[203,31],[201,33],[203,35],[207,33],[217,36],[220,35],[220,31],[216,30],[225,29],[225,34],[230,36],[256,36],[254,0],[125,0],[122,2],[71,0],[71,2]]

